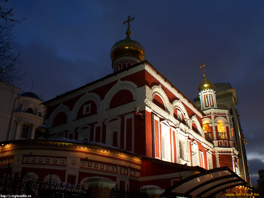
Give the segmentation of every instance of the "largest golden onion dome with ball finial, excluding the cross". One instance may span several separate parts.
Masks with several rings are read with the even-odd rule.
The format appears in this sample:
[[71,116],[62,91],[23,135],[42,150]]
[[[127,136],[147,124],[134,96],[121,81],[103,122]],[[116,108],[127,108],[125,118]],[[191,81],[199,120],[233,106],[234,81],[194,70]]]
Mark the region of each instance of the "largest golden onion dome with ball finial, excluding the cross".
[[137,41],[131,40],[131,31],[126,31],[126,39],[115,43],[110,51],[111,60],[115,60],[119,56],[134,56],[141,61],[145,59],[145,50],[143,46]]

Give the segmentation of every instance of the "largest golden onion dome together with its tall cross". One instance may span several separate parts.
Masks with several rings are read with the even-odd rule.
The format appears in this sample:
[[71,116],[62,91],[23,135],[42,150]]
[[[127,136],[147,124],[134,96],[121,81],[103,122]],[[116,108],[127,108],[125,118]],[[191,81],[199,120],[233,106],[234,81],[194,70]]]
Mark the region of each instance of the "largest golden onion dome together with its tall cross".
[[141,62],[145,59],[145,50],[143,46],[137,41],[131,40],[130,38],[131,35],[130,21],[132,20],[134,20],[134,17],[130,18],[130,16],[128,16],[128,20],[124,22],[124,24],[128,23],[128,27],[126,30],[126,38],[124,40],[120,40],[116,42],[110,50],[110,58],[112,60],[113,68],[116,66],[115,65],[117,62],[116,60],[121,57],[126,57],[123,58],[126,60],[133,59],[134,61],[133,64],[135,64],[135,62]]

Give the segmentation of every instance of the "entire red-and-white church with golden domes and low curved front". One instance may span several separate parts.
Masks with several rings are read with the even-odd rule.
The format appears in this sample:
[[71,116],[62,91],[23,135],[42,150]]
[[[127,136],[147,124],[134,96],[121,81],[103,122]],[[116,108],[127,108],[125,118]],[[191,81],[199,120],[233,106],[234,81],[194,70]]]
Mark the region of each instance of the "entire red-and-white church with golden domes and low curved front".
[[[143,46],[130,34],[128,23],[126,39],[111,49],[112,74],[41,104],[47,128],[39,127],[34,140],[16,140],[14,133],[13,140],[1,143],[1,168],[10,163],[13,172],[40,180],[53,170],[57,182],[68,179],[75,185],[102,180],[108,188],[116,183],[120,188],[147,186],[157,196],[169,188],[193,197],[209,197],[216,188],[223,191],[216,197],[247,193],[250,181],[234,89],[227,92],[235,96],[234,107],[223,106],[203,70],[198,108],[145,60]],[[195,189],[177,190],[184,179],[215,168],[222,172],[211,172],[212,178],[197,182]],[[224,175],[218,178],[218,173]]]

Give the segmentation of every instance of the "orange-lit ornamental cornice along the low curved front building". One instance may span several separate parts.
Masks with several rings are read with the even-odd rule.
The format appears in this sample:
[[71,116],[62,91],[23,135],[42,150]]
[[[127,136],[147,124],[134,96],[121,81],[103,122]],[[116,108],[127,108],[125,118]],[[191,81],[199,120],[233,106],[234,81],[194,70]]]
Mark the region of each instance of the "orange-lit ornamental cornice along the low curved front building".
[[28,155],[31,153],[31,156],[38,155],[44,158],[55,156],[59,159],[66,159],[67,157],[85,159],[88,156],[88,160],[122,165],[138,170],[141,169],[142,160],[144,158],[118,149],[78,143],[22,140],[2,142],[2,144],[4,144],[4,146],[1,147],[2,156],[10,155],[10,149],[13,155]]

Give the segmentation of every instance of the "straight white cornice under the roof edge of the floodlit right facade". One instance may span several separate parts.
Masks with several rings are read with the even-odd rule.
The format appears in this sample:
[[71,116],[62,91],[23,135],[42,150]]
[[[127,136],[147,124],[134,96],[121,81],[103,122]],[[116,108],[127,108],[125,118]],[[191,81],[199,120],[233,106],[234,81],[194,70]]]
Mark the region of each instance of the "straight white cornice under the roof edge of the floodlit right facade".
[[202,114],[195,109],[188,100],[186,100],[179,92],[171,87],[169,83],[167,83],[161,76],[159,76],[148,64],[145,64],[145,70],[149,72],[154,78],[156,78],[164,87],[166,87],[169,91],[171,91],[177,98],[181,99],[185,105],[187,105],[192,111],[194,111],[198,116],[202,117]]

